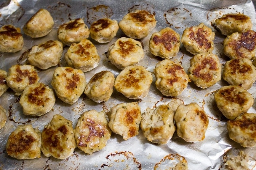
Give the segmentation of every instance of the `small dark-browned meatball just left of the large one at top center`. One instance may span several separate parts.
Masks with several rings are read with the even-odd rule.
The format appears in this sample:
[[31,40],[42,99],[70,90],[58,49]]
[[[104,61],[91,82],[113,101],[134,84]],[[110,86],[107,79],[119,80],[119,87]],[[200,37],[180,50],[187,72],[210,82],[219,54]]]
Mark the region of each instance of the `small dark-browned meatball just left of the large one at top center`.
[[90,27],[91,38],[99,43],[111,41],[119,29],[117,20],[102,18],[94,21]]

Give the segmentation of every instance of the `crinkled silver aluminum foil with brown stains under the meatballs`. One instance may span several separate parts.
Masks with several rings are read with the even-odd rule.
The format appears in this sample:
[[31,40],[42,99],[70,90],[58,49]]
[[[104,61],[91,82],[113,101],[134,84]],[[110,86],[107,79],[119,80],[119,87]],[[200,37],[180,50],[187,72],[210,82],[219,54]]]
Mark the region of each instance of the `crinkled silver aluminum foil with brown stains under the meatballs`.
[[[222,68],[224,63],[229,60],[223,54],[223,40],[218,31],[212,27],[214,19],[226,13],[244,13],[253,20],[253,30],[256,30],[256,14],[254,4],[250,0],[2,0],[0,2],[0,24],[13,24],[16,27],[22,28],[27,20],[40,8],[47,9],[54,19],[54,29],[49,35],[43,38],[30,38],[22,32],[24,36],[24,47],[20,52],[14,54],[0,54],[0,69],[8,71],[11,65],[17,64],[21,54],[34,45],[46,42],[50,39],[57,40],[57,29],[59,25],[72,19],[82,18],[86,25],[94,20],[102,17],[109,17],[118,22],[122,17],[130,11],[136,9],[146,9],[150,13],[155,14],[157,26],[146,37],[141,39],[144,44],[145,57],[139,62],[139,65],[145,66],[148,71],[153,72],[158,61],[162,60],[150,54],[148,43],[153,32],[159,31],[165,27],[171,27],[173,30],[182,35],[186,27],[195,26],[203,22],[210,27],[216,34],[214,39],[213,53],[218,55]],[[90,72],[85,72],[86,81],[102,70],[109,70],[117,76],[120,72],[107,59],[108,47],[115,42],[117,38],[123,35],[119,30],[117,36],[109,43],[99,44],[89,38],[98,50],[101,57],[99,66]],[[64,54],[68,47],[64,47],[61,62],[58,66],[67,66],[64,60]],[[186,52],[183,46],[179,50],[176,57],[171,60],[181,63],[184,69],[190,66],[192,55]],[[57,67],[57,66],[56,66]],[[43,82],[51,87],[51,78],[56,67],[47,70],[38,70],[40,82]],[[184,104],[196,102],[207,113],[209,118],[209,126],[206,131],[205,139],[202,142],[188,143],[178,137],[174,133],[173,138],[166,145],[156,145],[147,141],[143,136],[142,131],[136,137],[128,140],[123,140],[122,136],[112,133],[110,140],[104,149],[87,155],[78,148],[74,154],[65,160],[55,159],[53,157],[45,157],[41,154],[41,158],[30,160],[17,160],[6,153],[6,142],[8,136],[19,124],[32,124],[34,128],[38,128],[41,132],[43,127],[51,121],[55,114],[61,114],[68,120],[73,122],[75,127],[78,118],[86,110],[96,109],[97,111],[108,112],[111,107],[121,102],[132,102],[134,100],[125,98],[122,94],[114,91],[109,101],[96,104],[88,99],[84,94],[73,105],[68,105],[57,99],[53,109],[40,117],[26,116],[22,113],[19,105],[19,97],[14,95],[14,92],[9,90],[0,97],[0,104],[6,109],[8,120],[6,126],[0,130],[0,169],[62,169],[62,170],[103,170],[103,169],[143,169],[149,170],[154,167],[164,169],[168,165],[173,164],[170,158],[172,154],[183,156],[190,170],[219,170],[223,169],[225,157],[232,154],[238,154],[239,151],[244,151],[249,156],[248,163],[250,170],[256,169],[256,150],[255,148],[243,148],[238,143],[229,139],[226,129],[227,119],[221,114],[216,107],[214,101],[214,91],[220,87],[228,85],[224,80],[219,81],[212,87],[200,89],[190,82],[187,89],[184,90],[178,99],[181,99]],[[248,90],[254,98],[256,98],[256,84]],[[155,108],[161,104],[176,98],[164,97],[155,88],[155,77],[150,87],[149,94],[146,98],[136,101],[141,107],[141,111],[145,112],[146,108]],[[256,113],[256,102],[248,112]]]

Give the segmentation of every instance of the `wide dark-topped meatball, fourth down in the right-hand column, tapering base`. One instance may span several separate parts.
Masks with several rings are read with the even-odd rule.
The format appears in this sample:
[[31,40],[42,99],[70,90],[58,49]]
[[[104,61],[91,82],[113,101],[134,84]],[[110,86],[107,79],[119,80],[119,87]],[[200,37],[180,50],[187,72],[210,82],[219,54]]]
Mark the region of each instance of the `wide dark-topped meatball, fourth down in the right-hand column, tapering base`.
[[247,112],[254,103],[253,96],[239,86],[224,86],[214,93],[222,114],[231,120]]

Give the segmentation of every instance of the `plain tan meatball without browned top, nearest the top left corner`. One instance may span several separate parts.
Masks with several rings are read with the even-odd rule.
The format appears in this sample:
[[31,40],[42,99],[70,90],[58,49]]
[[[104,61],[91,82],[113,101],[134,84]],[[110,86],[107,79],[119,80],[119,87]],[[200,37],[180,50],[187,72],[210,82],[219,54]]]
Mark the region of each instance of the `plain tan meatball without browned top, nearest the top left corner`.
[[46,9],[39,9],[24,25],[23,31],[32,38],[46,36],[53,29],[54,21]]

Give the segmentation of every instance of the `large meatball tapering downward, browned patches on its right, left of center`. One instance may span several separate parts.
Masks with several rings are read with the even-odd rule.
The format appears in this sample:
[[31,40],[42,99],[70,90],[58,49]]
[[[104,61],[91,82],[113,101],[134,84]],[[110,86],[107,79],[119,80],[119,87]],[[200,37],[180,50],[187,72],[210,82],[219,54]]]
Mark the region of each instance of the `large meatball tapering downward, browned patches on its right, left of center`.
[[67,104],[74,104],[85,90],[85,74],[80,69],[58,67],[54,70],[51,85],[59,99]]

